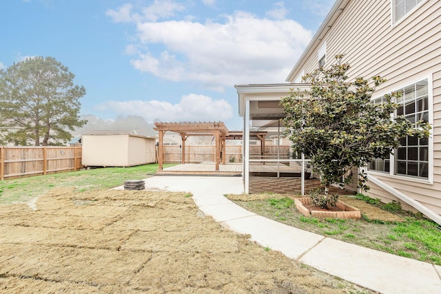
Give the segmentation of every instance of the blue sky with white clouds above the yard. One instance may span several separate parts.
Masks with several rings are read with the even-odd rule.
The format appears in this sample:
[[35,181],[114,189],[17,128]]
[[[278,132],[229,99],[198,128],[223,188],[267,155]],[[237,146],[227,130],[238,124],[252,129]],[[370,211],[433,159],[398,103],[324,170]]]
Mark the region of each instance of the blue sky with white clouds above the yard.
[[0,69],[52,56],[81,114],[242,129],[234,85],[285,82],[334,1],[1,1]]

